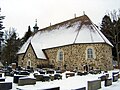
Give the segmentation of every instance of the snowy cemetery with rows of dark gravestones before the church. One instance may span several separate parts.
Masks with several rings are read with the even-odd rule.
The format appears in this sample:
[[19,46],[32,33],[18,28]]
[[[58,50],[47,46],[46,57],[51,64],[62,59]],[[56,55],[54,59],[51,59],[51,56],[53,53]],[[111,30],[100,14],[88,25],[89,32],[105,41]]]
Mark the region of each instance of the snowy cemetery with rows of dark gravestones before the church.
[[[11,74],[12,72],[12,74]],[[101,90],[120,81],[119,70],[1,69],[0,90]],[[109,90],[109,88],[105,89]]]

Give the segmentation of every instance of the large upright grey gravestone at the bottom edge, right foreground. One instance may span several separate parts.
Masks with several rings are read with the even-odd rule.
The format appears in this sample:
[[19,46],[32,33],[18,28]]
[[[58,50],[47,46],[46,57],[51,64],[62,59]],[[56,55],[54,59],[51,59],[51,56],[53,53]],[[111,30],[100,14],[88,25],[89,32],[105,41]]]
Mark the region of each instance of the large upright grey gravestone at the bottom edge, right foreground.
[[88,81],[88,90],[98,90],[101,88],[101,80]]

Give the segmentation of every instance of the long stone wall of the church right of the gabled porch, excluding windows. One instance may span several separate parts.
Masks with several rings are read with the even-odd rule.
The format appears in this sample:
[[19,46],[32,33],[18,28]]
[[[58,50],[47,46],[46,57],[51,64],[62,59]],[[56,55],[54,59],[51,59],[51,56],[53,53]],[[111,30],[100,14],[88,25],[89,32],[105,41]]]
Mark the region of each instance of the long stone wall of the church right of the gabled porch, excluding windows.
[[[95,56],[93,59],[86,58],[86,48],[94,49]],[[59,61],[57,53],[59,50],[64,52],[64,60]],[[45,50],[49,57],[49,63],[53,64],[57,69],[84,70],[84,65],[93,67],[94,69],[111,70],[112,67],[112,48],[107,44],[75,44],[64,47],[51,48]]]

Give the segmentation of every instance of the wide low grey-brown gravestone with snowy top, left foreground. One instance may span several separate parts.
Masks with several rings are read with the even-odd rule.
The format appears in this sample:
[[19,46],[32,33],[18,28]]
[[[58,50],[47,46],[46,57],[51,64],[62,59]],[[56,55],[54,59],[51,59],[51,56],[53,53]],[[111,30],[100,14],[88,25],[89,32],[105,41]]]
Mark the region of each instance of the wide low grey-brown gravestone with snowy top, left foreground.
[[18,86],[34,85],[34,84],[36,84],[36,79],[35,78],[21,77],[18,80]]

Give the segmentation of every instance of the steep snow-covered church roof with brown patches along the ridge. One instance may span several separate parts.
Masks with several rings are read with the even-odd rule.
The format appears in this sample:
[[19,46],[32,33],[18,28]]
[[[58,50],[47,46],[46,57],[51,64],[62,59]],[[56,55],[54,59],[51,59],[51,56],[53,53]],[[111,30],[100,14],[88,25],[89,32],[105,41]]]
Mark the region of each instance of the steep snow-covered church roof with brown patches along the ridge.
[[107,43],[113,46],[87,15],[76,17],[39,30],[28,39],[18,54],[25,53],[31,43],[38,58],[46,59],[43,49],[75,43]]

